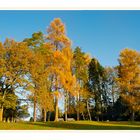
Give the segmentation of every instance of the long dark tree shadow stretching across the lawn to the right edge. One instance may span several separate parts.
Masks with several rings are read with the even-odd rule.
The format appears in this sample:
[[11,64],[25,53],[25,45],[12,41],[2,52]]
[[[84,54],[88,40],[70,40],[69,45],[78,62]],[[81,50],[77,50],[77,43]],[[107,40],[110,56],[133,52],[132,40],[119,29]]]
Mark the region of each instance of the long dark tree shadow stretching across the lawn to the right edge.
[[56,129],[69,130],[140,130],[140,127],[130,126],[103,126],[96,124],[76,124],[73,122],[46,122],[46,123],[29,123],[31,125],[50,127]]

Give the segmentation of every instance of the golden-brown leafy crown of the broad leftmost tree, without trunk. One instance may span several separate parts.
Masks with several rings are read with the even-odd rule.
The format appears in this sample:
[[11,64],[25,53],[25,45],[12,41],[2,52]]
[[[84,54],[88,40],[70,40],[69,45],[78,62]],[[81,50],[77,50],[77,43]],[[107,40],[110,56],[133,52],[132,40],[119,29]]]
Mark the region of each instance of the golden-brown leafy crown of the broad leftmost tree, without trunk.
[[0,45],[1,77],[5,78],[8,85],[21,85],[23,76],[29,72],[29,60],[31,51],[28,46],[22,42],[6,40]]

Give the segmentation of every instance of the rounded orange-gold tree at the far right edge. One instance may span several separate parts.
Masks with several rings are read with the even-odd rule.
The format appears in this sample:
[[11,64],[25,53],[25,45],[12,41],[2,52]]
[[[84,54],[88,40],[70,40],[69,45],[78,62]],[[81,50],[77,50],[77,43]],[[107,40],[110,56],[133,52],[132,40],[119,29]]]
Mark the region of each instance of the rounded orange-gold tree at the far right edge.
[[118,83],[121,97],[129,106],[131,120],[135,112],[140,110],[140,53],[132,49],[120,52],[118,67]]

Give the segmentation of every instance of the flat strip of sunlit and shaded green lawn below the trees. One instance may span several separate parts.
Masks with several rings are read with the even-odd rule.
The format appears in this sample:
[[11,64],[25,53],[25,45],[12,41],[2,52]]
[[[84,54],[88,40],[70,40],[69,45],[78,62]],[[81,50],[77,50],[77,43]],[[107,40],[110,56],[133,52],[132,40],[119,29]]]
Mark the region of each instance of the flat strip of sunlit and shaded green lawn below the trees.
[[140,122],[1,122],[0,130],[140,130]]

